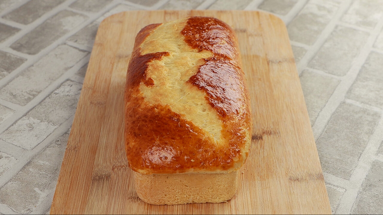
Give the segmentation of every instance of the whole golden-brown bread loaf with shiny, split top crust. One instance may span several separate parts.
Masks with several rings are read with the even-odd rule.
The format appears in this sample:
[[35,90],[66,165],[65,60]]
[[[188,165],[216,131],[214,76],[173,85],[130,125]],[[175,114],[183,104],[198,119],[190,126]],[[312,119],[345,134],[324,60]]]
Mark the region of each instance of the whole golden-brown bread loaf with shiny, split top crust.
[[126,76],[125,140],[150,204],[223,202],[249,153],[251,111],[234,31],[211,17],[150,24]]

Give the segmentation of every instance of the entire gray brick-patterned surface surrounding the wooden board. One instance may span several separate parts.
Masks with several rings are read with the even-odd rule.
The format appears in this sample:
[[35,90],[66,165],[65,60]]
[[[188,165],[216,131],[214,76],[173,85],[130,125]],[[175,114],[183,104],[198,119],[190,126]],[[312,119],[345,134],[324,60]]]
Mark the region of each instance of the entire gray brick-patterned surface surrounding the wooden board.
[[1,0],[0,214],[49,213],[98,25],[158,9],[282,18],[332,212],[383,213],[383,0]]

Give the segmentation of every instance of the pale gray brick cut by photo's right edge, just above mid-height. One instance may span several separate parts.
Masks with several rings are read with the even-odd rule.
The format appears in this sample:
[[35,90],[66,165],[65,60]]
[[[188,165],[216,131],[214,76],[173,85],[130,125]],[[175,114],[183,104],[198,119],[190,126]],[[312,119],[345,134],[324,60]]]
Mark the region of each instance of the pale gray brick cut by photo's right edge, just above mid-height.
[[383,108],[383,54],[371,52],[346,97]]

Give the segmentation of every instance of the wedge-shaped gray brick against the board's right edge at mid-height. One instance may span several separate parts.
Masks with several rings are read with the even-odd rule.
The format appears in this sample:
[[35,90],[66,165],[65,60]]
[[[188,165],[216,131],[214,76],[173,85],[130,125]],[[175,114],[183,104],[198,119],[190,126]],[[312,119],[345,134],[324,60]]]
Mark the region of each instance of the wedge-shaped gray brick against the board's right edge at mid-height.
[[300,77],[311,125],[339,84],[339,80],[304,70]]

